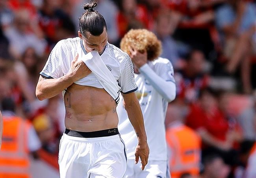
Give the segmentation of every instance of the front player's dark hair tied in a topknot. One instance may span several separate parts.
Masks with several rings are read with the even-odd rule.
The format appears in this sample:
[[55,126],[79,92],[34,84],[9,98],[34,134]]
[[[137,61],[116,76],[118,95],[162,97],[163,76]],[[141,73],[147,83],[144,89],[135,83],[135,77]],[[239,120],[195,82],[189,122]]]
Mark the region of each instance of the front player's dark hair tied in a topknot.
[[104,27],[107,29],[104,17],[98,13],[98,11],[93,10],[96,6],[96,1],[87,3],[83,6],[85,12],[79,18],[79,30],[83,37],[86,36],[86,32],[89,32],[94,36],[99,36],[104,31]]

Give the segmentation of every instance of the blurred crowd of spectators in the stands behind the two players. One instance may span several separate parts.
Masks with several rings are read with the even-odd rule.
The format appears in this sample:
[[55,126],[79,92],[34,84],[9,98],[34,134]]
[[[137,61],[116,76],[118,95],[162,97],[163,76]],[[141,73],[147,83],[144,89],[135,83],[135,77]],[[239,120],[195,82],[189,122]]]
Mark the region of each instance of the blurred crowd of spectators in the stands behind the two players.
[[[77,36],[85,2],[0,0],[0,109],[13,105],[53,155],[65,129],[62,95],[39,101],[35,86],[54,45]],[[96,9],[106,20],[110,43],[119,46],[129,29],[147,28],[162,42],[161,57],[174,66],[177,97],[166,117],[171,170],[175,159],[186,164],[173,155],[189,141],[194,148],[186,154],[198,157],[198,167],[176,170],[173,177],[249,175],[256,138],[256,2],[98,0]],[[185,129],[183,137],[177,127]]]

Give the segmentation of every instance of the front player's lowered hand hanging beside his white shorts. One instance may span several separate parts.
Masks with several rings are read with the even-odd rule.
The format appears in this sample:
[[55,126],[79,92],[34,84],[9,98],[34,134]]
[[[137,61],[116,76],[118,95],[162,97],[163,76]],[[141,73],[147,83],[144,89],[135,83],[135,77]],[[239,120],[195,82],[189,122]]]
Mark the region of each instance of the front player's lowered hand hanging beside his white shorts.
[[144,143],[139,143],[135,149],[135,164],[141,159],[141,169],[144,170],[148,163],[149,148],[147,141]]

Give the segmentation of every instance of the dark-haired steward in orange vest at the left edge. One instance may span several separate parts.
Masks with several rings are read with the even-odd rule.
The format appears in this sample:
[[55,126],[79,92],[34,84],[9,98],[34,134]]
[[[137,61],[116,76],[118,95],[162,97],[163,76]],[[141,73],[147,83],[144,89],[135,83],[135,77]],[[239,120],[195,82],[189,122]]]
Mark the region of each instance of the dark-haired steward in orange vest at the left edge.
[[[41,147],[40,141],[33,138],[36,134],[31,132],[32,124],[15,116],[15,104],[11,99],[2,100],[2,115],[4,128],[0,150],[0,178],[30,178],[28,155],[32,149]],[[33,141],[33,146],[29,146],[29,141]]]

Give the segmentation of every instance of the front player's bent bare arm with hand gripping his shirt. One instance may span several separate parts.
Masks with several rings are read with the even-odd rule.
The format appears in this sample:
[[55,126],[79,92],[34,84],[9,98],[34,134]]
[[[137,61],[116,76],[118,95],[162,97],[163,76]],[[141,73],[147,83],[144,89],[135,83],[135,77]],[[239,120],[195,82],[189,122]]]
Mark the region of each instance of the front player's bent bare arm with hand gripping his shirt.
[[75,81],[89,75],[89,73],[91,73],[91,70],[89,70],[83,61],[78,61],[78,55],[76,55],[66,75],[58,79],[48,79],[40,75],[35,94],[39,100],[54,97]]

